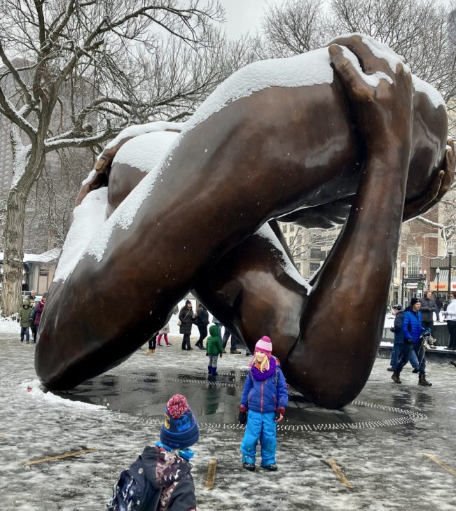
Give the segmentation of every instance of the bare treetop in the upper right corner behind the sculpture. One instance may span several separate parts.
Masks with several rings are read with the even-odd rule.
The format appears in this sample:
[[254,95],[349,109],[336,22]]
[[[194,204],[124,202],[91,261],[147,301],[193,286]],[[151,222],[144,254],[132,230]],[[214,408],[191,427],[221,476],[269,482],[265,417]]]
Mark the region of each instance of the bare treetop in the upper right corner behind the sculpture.
[[456,52],[450,12],[448,4],[434,0],[332,0],[329,32],[361,32],[389,45],[454,111]]

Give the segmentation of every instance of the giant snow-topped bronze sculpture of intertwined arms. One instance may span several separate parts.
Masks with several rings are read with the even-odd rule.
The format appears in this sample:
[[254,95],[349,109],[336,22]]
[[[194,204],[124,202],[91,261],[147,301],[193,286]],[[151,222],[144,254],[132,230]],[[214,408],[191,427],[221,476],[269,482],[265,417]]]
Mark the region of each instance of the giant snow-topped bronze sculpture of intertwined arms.
[[[96,240],[106,244],[49,290],[43,384],[71,388],[118,365],[193,289],[250,348],[269,335],[290,384],[317,405],[352,401],[380,343],[401,223],[438,202],[455,169],[443,100],[383,50],[338,38],[315,53],[330,81],[272,83],[209,113],[203,104],[154,176],[106,153],[79,197],[108,184],[113,214]],[[275,219],[345,221],[310,286]]]

